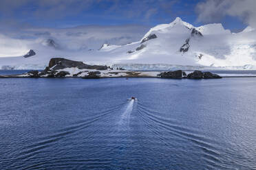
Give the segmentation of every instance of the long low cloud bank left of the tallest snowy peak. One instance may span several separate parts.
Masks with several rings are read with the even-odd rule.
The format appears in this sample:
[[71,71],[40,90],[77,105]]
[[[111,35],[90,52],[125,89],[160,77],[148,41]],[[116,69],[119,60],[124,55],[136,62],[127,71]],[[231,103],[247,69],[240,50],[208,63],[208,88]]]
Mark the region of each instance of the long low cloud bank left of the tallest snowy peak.
[[0,58],[22,56],[30,49],[54,50],[45,42],[52,39],[58,45],[59,51],[97,50],[103,43],[124,45],[138,41],[147,33],[148,26],[143,25],[84,25],[66,29],[25,27],[19,32],[0,34]]

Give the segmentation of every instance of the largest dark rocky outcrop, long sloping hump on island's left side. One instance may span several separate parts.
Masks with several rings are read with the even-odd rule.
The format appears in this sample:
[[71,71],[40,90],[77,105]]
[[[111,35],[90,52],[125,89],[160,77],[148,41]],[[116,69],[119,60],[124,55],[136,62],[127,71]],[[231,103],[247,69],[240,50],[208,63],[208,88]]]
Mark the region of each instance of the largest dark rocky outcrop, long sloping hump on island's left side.
[[107,70],[107,66],[89,65],[84,64],[83,62],[67,60],[65,58],[52,58],[48,66],[52,70],[59,70],[71,67],[77,67],[78,69]]

